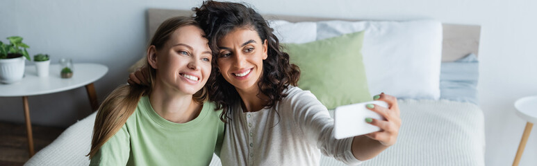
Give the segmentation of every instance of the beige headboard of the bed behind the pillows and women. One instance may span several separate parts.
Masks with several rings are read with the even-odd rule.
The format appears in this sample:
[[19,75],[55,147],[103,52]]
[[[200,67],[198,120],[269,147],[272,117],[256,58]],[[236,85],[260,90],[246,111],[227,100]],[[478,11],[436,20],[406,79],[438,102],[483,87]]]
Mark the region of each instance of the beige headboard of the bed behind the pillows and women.
[[[158,26],[166,19],[175,16],[192,16],[192,14],[194,14],[194,12],[191,10],[147,10],[148,39],[155,33],[156,28],[158,28]],[[281,19],[290,22],[334,20],[333,18],[295,17],[286,15],[263,15],[263,17],[265,17],[265,19]],[[340,20],[357,21],[352,19]],[[480,33],[481,26],[443,24],[442,61],[451,62],[470,53],[478,55]]]

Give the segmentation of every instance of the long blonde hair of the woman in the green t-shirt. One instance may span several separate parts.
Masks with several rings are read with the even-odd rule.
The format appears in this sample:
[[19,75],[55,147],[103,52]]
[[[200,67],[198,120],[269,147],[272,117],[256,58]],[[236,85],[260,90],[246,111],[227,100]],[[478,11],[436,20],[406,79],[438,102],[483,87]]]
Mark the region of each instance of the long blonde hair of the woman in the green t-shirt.
[[[160,50],[175,30],[189,25],[198,26],[197,22],[190,17],[172,17],[167,19],[157,28],[147,48],[149,49],[149,46],[155,46],[156,50]],[[149,86],[120,85],[108,95],[103,104],[101,104],[101,107],[99,107],[93,127],[92,146],[90,153],[86,155],[90,156],[90,159],[97,154],[97,151],[99,151],[106,141],[112,138],[123,127],[126,120],[134,113],[142,95],[149,95],[151,93],[155,82],[156,70],[149,66],[147,58],[142,70],[148,70],[147,72],[150,75],[147,78]],[[204,86],[203,89],[192,95],[192,98],[201,104],[207,100],[207,96],[208,88]]]

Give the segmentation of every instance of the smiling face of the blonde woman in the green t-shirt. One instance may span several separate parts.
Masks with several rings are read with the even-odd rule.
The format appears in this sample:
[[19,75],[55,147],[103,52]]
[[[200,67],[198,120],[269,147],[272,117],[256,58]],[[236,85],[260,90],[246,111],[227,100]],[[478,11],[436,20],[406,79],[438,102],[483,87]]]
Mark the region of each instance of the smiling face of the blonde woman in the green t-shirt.
[[162,49],[151,46],[151,51],[156,56],[148,60],[157,70],[158,84],[186,94],[194,94],[206,84],[212,55],[204,32],[197,26],[175,30]]

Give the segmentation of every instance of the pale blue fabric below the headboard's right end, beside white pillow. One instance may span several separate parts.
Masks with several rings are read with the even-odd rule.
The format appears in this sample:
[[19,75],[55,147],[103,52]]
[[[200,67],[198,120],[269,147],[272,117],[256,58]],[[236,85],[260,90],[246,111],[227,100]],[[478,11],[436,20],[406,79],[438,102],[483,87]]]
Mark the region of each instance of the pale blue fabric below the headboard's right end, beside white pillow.
[[473,53],[440,66],[440,99],[478,104],[479,61]]

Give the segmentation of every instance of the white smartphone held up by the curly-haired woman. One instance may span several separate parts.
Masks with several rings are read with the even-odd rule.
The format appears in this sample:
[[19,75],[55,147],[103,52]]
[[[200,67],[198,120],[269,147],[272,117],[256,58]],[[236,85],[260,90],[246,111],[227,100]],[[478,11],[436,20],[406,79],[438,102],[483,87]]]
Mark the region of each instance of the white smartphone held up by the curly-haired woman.
[[336,107],[333,116],[334,137],[336,139],[360,136],[380,130],[379,127],[365,122],[365,118],[384,120],[384,117],[367,109],[366,104],[377,104],[380,107],[388,108],[388,103],[380,100]]

